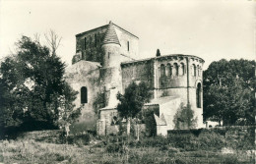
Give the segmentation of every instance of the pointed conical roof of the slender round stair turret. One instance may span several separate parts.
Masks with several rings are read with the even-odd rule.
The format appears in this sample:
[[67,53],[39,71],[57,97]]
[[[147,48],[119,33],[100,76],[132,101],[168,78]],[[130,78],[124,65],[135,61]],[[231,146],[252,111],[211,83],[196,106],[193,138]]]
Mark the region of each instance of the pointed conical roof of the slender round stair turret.
[[109,22],[109,25],[106,29],[105,36],[102,42],[102,44],[109,44],[109,43],[121,45],[112,22]]

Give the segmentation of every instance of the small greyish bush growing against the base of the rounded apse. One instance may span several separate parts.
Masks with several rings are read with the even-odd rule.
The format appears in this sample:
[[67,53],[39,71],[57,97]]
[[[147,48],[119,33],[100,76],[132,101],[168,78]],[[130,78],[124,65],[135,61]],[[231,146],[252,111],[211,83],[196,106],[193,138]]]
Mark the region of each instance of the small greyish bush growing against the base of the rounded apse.
[[194,118],[194,111],[191,109],[191,105],[184,106],[181,103],[173,118],[175,129],[192,129],[195,128],[196,122],[197,118]]

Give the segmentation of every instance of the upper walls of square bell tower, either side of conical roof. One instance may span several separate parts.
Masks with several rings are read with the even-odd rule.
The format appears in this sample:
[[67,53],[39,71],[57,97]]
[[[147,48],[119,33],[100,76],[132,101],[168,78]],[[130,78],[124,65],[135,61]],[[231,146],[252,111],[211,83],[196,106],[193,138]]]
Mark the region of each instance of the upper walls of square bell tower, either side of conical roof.
[[[79,33],[76,35],[76,52],[81,52],[81,59],[87,61],[103,63],[104,52],[101,48],[102,41],[108,26],[97,27],[95,29]],[[136,59],[139,54],[139,38],[121,27],[114,25],[121,46],[118,49],[118,58],[126,57],[125,61]],[[85,41],[86,38],[86,41]],[[129,43],[128,43],[129,42]],[[129,44],[129,48],[128,48]],[[77,58],[78,56],[74,56]],[[74,59],[77,61],[78,59]],[[124,61],[124,60],[122,60]]]

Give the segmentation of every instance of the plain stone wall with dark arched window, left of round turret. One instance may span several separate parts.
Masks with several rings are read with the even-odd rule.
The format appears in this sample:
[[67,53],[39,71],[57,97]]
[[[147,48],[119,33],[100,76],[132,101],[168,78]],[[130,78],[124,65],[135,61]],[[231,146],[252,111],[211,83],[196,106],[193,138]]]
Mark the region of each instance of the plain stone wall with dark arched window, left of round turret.
[[[83,106],[82,115],[79,121],[70,127],[71,133],[79,131],[95,131],[96,130],[96,115],[94,111],[94,101],[97,92],[100,90],[99,64],[88,61],[80,61],[66,71],[66,82],[72,88],[78,91],[76,107]],[[81,88],[87,87],[87,103],[81,103]]]

